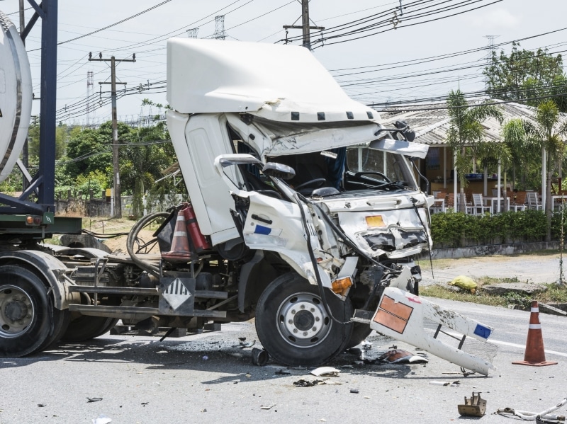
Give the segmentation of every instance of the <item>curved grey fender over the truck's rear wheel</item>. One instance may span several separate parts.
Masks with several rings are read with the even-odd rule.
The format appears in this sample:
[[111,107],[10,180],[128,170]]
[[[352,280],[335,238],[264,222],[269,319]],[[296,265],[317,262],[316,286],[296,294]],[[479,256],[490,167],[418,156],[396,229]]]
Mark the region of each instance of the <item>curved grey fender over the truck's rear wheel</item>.
[[13,251],[0,255],[0,264],[21,265],[39,275],[45,285],[52,289],[55,308],[67,309],[73,294],[64,278],[67,267],[59,259],[43,251]]

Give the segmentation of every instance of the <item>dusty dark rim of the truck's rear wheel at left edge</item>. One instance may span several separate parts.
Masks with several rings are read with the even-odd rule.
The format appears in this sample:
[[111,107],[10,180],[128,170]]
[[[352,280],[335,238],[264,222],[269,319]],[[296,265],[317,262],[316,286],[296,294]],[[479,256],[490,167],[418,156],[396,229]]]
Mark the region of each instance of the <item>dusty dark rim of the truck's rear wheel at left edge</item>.
[[0,287],[0,335],[6,338],[26,333],[33,321],[34,309],[31,298],[20,287]]

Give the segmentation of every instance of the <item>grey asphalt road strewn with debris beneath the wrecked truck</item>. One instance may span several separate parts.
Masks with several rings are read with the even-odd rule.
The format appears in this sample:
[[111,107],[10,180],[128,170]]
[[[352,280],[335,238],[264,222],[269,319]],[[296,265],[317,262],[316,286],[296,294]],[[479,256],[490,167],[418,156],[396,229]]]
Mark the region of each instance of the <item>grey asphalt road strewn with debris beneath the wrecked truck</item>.
[[[372,363],[392,345],[415,352],[376,333],[369,338],[370,350],[344,353],[329,364],[341,371],[326,379],[330,384],[310,387],[293,385],[300,379],[321,379],[307,369],[286,369],[271,361],[264,367],[252,365],[252,348],[242,348],[239,340],[257,340],[252,323],[164,342],[106,335],[32,357],[0,360],[0,423],[93,423],[103,414],[113,424],[437,424],[478,420],[457,412],[473,391],[487,399],[481,422],[515,423],[493,413],[506,406],[541,411],[567,395],[567,318],[540,314],[546,359],[558,365],[526,367],[511,362],[523,359],[529,312],[430,300],[496,328],[492,340],[498,346],[497,369],[489,377],[464,377],[459,367],[432,355],[427,365]],[[456,380],[459,385],[437,385]],[[567,413],[567,407],[559,412]]]

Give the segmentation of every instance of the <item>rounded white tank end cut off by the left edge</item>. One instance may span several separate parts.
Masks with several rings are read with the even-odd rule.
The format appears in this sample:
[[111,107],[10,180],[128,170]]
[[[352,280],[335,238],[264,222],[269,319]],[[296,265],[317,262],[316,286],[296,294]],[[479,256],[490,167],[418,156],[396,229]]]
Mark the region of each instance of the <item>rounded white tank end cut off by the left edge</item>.
[[32,85],[26,47],[0,11],[0,182],[18,160],[30,125]]

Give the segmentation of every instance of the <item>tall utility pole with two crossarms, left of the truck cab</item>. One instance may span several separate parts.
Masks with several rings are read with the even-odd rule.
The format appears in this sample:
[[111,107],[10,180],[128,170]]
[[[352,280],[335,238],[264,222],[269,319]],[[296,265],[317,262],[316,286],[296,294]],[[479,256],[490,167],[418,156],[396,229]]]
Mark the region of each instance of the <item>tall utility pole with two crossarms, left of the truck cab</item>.
[[112,169],[113,169],[113,185],[114,185],[114,218],[122,217],[122,201],[120,198],[120,169],[118,168],[118,115],[116,113],[116,84],[126,85],[125,82],[116,82],[116,62],[136,62],[136,55],[132,55],[132,59],[118,59],[114,56],[110,59],[103,59],[102,53],[99,58],[93,58],[89,53],[89,62],[111,62],[111,82],[99,82],[102,84],[111,84],[112,96]]

